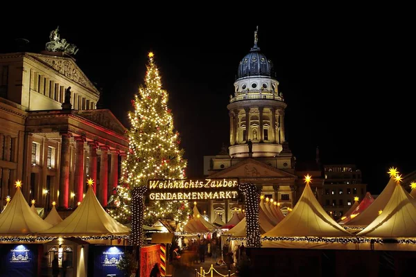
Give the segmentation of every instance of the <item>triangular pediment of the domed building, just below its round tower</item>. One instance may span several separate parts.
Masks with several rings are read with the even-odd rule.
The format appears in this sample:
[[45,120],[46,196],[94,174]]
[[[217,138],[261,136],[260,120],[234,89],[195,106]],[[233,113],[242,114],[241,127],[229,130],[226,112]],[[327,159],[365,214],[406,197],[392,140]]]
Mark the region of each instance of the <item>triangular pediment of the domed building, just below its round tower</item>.
[[251,178],[284,178],[284,179],[297,179],[295,175],[268,166],[265,163],[256,161],[254,159],[245,159],[234,166],[231,166],[220,172],[216,172],[214,175],[209,175],[211,178],[231,178],[238,177],[243,179]]

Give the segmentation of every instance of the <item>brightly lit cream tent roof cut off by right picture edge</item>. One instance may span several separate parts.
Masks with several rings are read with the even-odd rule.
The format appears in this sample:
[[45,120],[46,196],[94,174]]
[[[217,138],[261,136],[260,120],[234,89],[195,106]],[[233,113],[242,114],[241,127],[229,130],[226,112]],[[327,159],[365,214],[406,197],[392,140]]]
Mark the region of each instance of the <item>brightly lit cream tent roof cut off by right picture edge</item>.
[[[358,235],[374,238],[416,237],[416,200],[400,185],[381,214]],[[373,204],[374,205],[374,204]]]

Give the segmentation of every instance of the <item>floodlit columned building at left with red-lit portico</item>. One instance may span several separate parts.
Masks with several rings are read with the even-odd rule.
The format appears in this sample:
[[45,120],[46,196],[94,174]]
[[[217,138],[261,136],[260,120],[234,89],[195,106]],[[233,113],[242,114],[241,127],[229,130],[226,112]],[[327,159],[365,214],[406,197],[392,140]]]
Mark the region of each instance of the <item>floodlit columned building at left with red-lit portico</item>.
[[0,199],[17,179],[28,202],[74,208],[86,181],[103,206],[128,150],[125,127],[97,109],[100,91],[62,52],[0,54]]

